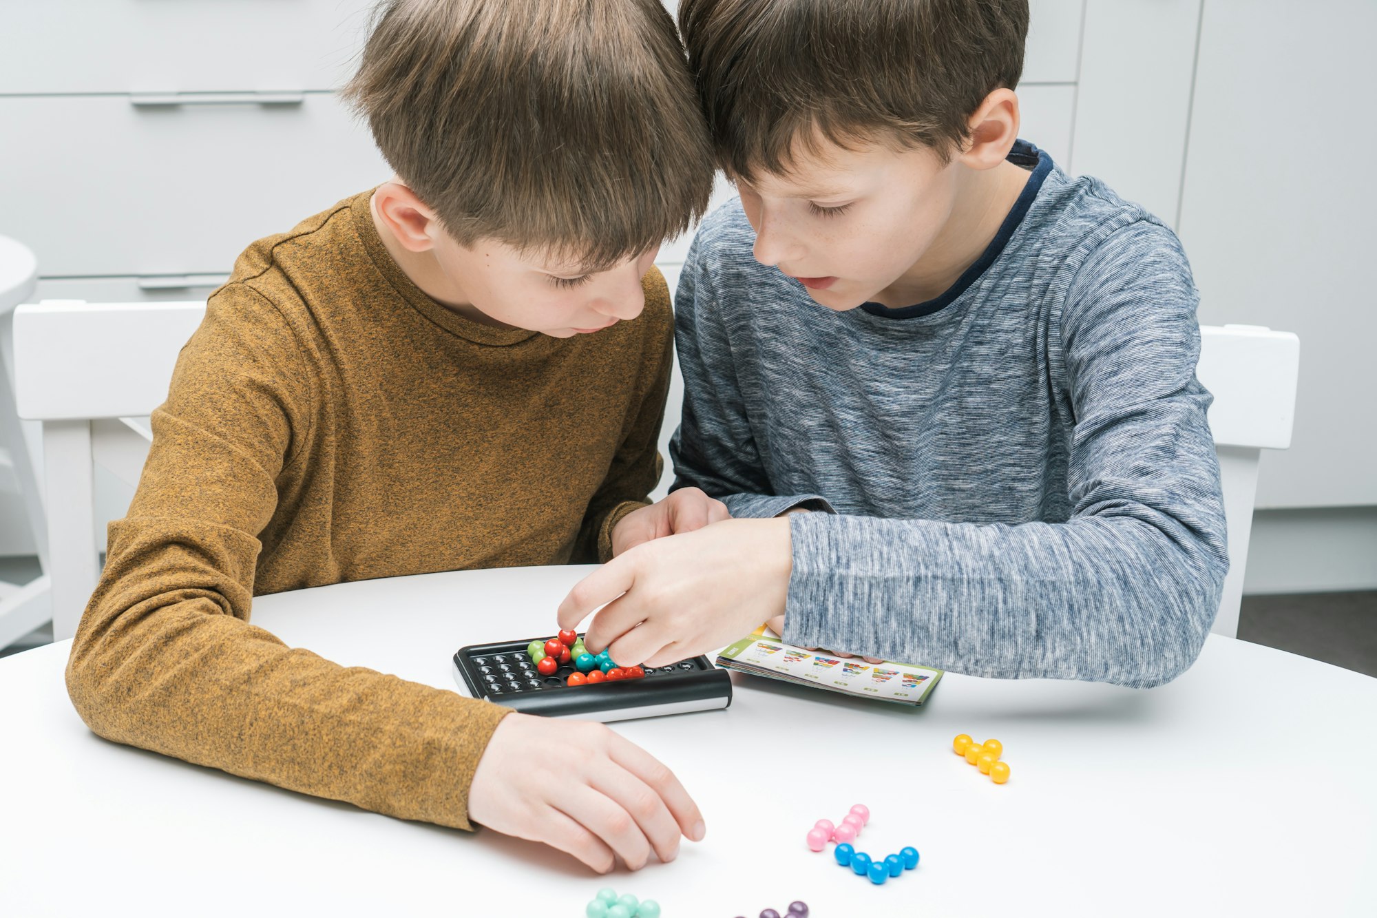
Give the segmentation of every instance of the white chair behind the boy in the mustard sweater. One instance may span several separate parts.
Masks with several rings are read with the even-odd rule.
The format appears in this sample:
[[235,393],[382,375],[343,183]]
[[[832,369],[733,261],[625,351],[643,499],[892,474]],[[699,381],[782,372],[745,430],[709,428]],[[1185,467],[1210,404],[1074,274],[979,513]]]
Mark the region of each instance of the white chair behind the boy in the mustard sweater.
[[101,571],[95,465],[138,485],[182,346],[205,302],[44,300],[14,316],[19,416],[43,422],[52,637],[76,634]]

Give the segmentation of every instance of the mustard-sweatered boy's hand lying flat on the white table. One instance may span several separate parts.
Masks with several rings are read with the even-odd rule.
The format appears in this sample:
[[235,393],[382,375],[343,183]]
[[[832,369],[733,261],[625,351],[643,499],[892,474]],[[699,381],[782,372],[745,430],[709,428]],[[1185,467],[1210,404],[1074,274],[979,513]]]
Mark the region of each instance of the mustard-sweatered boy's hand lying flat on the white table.
[[[577,750],[570,755],[569,750]],[[640,870],[654,850],[701,841],[702,813],[673,773],[602,724],[508,714],[478,762],[468,817],[504,835],[569,852],[600,874],[621,857]]]

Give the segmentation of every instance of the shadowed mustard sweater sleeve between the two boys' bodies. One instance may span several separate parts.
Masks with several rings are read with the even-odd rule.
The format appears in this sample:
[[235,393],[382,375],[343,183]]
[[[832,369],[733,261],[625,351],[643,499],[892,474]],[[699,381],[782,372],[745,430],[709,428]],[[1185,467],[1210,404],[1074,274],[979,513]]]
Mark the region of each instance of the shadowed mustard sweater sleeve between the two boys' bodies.
[[573,561],[605,562],[611,558],[611,531],[632,510],[650,506],[650,492],[660,482],[660,426],[673,368],[673,310],[669,288],[660,269],[642,278],[646,307],[640,314],[643,345],[636,398],[622,425],[621,442],[603,482],[598,487],[578,533]]

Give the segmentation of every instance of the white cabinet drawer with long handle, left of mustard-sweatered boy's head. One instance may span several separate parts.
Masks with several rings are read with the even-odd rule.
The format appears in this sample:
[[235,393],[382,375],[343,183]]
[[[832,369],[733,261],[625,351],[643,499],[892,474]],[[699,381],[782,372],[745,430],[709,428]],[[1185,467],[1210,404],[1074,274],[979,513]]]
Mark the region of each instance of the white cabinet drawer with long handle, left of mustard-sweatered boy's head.
[[292,106],[135,108],[128,96],[0,96],[0,233],[43,277],[223,274],[391,170],[333,95]]

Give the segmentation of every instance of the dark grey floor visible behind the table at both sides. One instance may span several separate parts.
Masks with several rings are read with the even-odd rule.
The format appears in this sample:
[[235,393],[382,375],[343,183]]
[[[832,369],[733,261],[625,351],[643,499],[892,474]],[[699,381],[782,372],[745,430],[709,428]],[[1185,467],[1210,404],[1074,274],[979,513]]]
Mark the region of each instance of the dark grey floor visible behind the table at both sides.
[[[39,576],[34,558],[0,558],[0,580],[26,583]],[[1377,677],[1377,590],[1245,595],[1238,637]],[[44,626],[0,656],[52,641]]]

